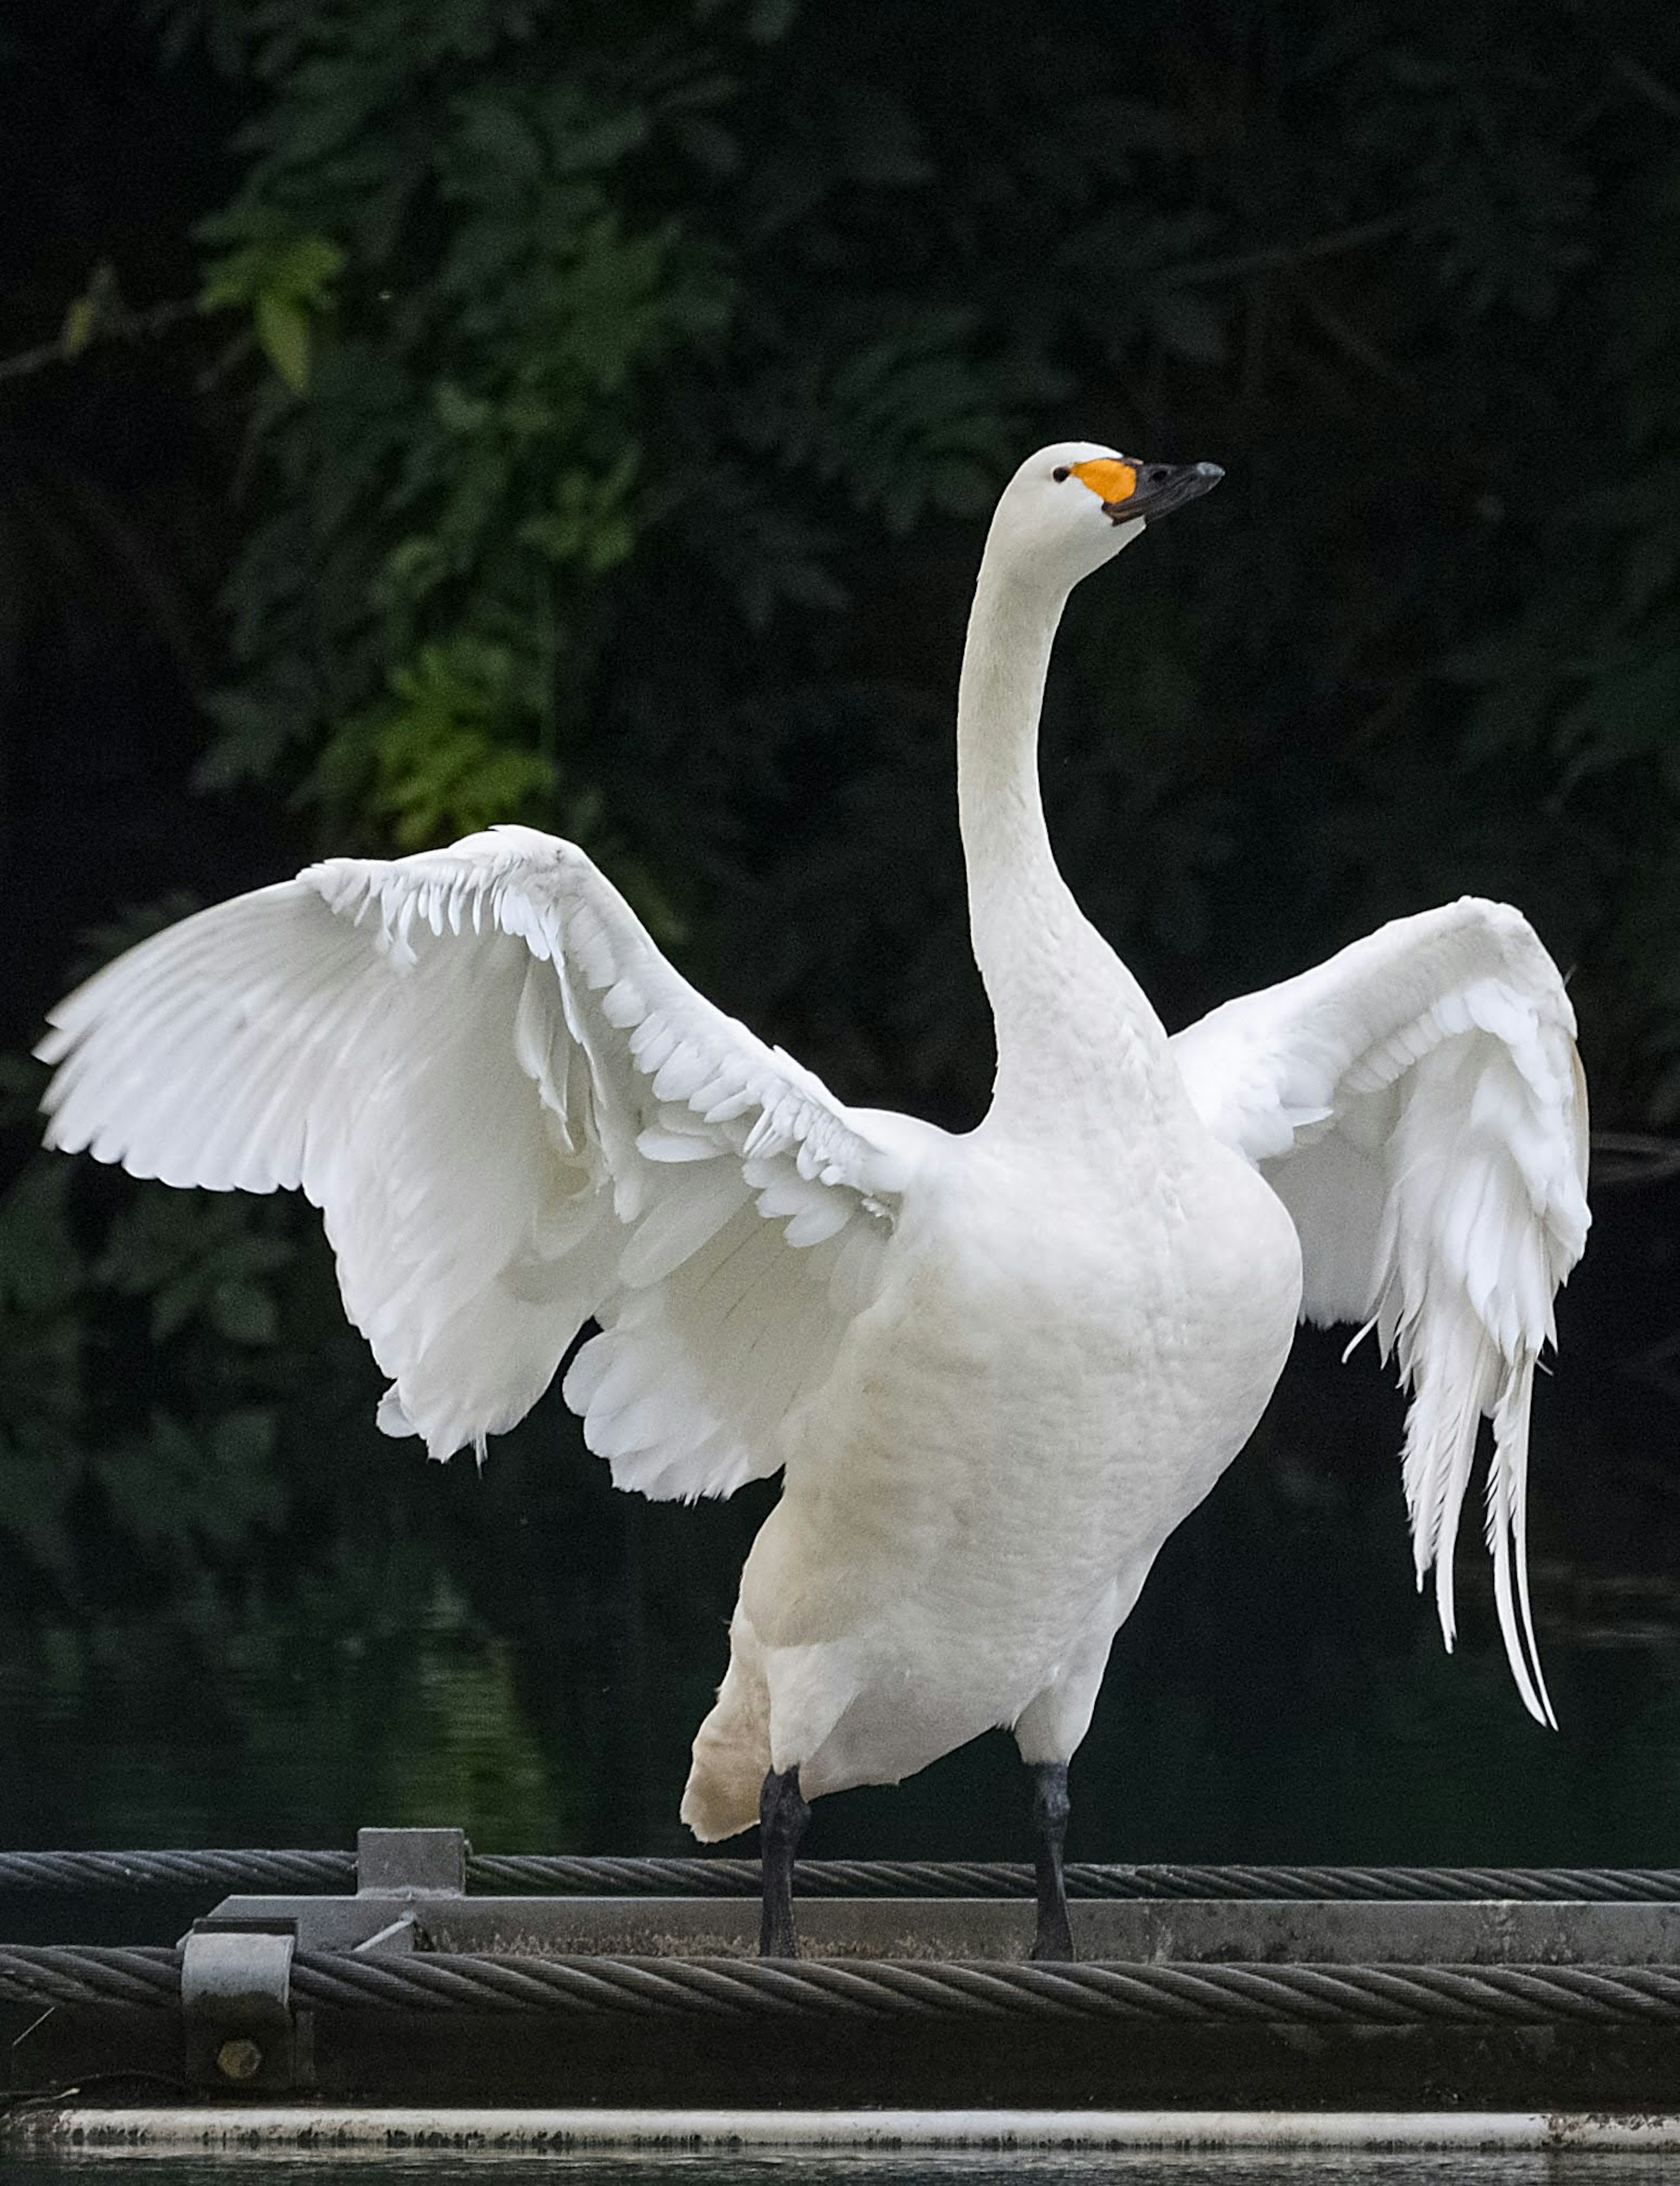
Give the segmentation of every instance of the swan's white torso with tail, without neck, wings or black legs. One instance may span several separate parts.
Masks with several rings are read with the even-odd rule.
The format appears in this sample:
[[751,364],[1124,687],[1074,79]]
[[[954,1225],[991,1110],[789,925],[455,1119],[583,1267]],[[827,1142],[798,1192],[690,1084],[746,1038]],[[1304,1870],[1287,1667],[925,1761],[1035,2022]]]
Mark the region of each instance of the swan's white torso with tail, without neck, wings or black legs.
[[991,1725],[1028,1762],[1085,1736],[1109,1642],[1253,1430],[1299,1303],[1278,1198],[1175,1121],[1107,1170],[1100,1141],[980,1130],[919,1174],[742,1574],[682,1801],[700,1836],[757,1817],[766,1766],[818,1795]]

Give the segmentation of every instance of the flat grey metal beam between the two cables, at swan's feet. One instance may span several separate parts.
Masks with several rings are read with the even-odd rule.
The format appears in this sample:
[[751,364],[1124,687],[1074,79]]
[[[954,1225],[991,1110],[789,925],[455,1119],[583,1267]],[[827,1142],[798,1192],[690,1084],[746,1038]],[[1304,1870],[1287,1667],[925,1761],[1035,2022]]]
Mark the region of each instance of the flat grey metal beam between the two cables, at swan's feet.
[[[755,1897],[225,1897],[221,1921],[295,1919],[304,1950],[348,1950],[411,1913],[420,1948],[610,1956],[752,1956]],[[1006,1897],[796,1897],[809,1959],[1002,1959],[1032,1948]],[[1081,1959],[1450,1965],[1676,1965],[1680,1904],[1098,1897],[1070,1906]]]

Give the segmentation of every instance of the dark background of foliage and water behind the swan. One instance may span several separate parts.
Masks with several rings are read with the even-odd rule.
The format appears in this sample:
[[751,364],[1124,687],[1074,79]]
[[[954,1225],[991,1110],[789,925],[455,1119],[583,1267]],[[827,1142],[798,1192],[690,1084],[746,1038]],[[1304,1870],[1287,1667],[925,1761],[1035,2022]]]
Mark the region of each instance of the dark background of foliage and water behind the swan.
[[[1564,1731],[1411,1594],[1400,1406],[1304,1340],[1162,1556],[1074,1849],[1671,1860],[1680,31],[1579,9],[11,0],[0,17],[0,1841],[674,1849],[768,1491],[549,1401],[381,1443],[306,1209],[33,1152],[42,1010],[190,903],[582,839],[847,1100],[978,1117],[952,693],[984,516],[1227,483],[1068,619],[1046,794],[1183,1023],[1509,896],[1595,1239],[1536,1423]],[[1002,1740],[812,1849],[1019,1849]]]

